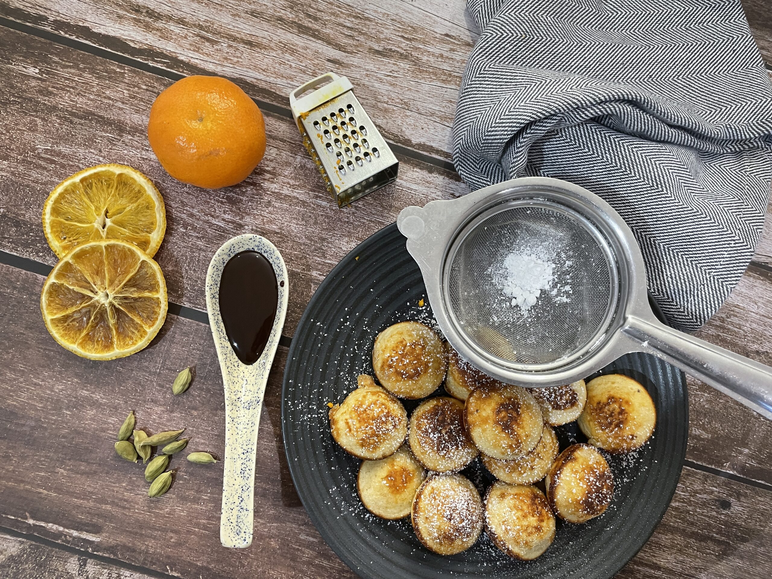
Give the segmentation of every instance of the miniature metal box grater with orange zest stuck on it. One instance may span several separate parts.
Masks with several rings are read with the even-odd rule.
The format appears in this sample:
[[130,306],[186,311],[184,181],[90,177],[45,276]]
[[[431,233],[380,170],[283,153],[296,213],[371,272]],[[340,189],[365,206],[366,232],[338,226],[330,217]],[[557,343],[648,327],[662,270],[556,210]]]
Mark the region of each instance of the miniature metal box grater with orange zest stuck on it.
[[[323,83],[327,84],[320,86]],[[313,92],[299,97],[309,90]],[[397,157],[345,76],[326,73],[298,86],[289,93],[289,107],[303,144],[339,207],[397,178]]]

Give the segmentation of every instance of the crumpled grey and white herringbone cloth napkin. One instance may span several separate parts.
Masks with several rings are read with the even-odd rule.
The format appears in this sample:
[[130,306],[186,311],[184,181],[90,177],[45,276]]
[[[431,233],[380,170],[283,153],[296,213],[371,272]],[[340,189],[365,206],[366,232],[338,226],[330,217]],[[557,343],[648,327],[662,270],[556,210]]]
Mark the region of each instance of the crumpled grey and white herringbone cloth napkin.
[[481,35],[453,127],[472,189],[541,175],[610,203],[648,289],[696,330],[753,256],[772,86],[737,0],[469,0]]

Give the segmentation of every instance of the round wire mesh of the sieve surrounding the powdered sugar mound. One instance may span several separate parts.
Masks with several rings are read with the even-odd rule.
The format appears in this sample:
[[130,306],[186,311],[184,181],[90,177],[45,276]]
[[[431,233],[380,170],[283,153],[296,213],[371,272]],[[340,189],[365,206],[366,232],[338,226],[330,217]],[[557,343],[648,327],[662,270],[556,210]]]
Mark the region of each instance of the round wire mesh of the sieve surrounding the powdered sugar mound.
[[[508,256],[554,265],[523,310],[503,292]],[[618,295],[608,242],[587,219],[548,201],[513,201],[483,213],[448,259],[450,313],[482,350],[517,367],[548,367],[591,345]]]

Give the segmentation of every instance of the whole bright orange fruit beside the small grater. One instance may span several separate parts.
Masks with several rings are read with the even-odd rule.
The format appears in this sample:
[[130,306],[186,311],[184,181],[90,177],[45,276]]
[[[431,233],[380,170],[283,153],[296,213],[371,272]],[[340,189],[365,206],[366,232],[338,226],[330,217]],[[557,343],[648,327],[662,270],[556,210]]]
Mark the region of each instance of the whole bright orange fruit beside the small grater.
[[147,138],[168,174],[208,189],[244,181],[266,152],[260,109],[220,76],[188,76],[159,94]]

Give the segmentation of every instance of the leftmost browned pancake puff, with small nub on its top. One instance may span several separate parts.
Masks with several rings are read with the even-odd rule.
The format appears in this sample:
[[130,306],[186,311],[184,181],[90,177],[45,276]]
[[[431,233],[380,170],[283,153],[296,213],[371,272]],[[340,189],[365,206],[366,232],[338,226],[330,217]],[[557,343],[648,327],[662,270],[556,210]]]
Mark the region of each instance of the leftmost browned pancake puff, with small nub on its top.
[[408,434],[408,413],[402,403],[371,376],[357,378],[359,388],[341,405],[330,408],[330,431],[335,442],[360,459],[385,459]]

